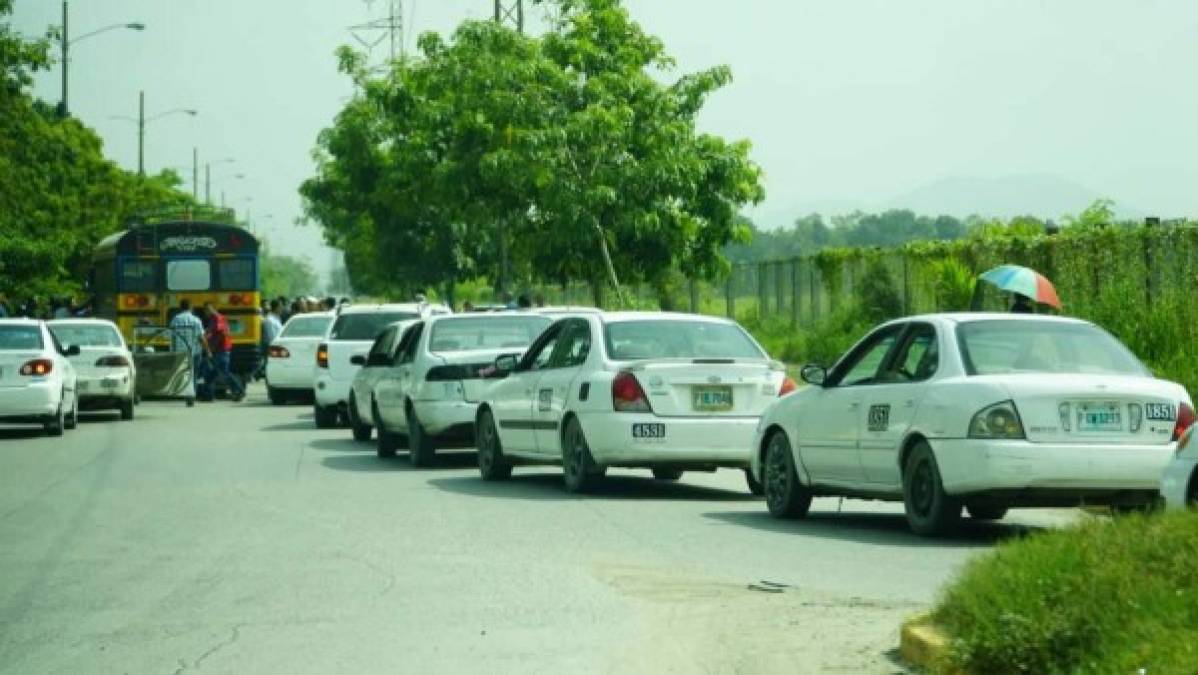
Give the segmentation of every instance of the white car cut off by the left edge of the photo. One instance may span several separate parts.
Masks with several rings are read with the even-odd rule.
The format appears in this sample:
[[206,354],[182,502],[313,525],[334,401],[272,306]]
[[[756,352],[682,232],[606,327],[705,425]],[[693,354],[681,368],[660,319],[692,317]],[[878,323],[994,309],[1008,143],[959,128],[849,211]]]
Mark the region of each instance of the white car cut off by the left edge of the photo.
[[75,374],[69,357],[44,321],[0,319],[0,422],[42,424],[61,436],[79,418]]

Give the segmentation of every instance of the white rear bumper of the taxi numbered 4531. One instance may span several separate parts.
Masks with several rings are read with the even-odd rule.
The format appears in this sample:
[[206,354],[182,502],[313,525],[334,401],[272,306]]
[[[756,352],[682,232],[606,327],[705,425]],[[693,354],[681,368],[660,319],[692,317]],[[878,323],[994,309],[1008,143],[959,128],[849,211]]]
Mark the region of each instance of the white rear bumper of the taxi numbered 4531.
[[[579,415],[599,464],[749,466],[757,417],[658,417],[628,412]],[[633,424],[665,424],[662,439],[634,439]]]

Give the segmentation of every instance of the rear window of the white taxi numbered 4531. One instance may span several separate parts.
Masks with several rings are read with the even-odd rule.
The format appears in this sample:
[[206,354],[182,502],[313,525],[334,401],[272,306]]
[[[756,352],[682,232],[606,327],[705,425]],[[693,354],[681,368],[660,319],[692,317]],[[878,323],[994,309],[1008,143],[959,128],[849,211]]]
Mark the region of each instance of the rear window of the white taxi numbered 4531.
[[736,324],[716,321],[641,320],[607,324],[607,356],[640,358],[766,358],[761,348]]

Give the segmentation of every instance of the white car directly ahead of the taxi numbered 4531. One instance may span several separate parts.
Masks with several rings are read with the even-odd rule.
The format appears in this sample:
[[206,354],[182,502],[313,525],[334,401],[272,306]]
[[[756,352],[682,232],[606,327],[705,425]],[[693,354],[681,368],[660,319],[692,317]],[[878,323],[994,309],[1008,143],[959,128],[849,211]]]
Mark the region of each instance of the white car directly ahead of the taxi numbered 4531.
[[407,438],[413,466],[432,462],[437,447],[473,447],[474,418],[491,385],[495,360],[513,357],[552,323],[524,312],[432,317],[410,327],[395,363],[375,385],[371,415],[379,457],[395,454]]

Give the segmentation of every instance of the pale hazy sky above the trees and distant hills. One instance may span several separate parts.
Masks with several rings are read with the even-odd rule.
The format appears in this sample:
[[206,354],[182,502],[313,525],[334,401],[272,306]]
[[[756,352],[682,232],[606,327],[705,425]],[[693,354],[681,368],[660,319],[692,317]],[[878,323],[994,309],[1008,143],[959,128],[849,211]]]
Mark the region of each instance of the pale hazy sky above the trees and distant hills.
[[[236,158],[213,169],[213,195],[223,191],[232,206],[249,209],[276,251],[308,255],[325,270],[329,254],[317,229],[292,224],[296,188],[311,175],[317,132],[350,91],[333,50],[352,42],[347,26],[386,6],[74,0],[73,35],[131,20],[147,29],[72,47],[72,113],[103,135],[110,157],[135,168],[135,126],[110,116],[135,116],[143,89],[147,116],[198,108],[196,117],[147,127],[147,170],[177,167],[189,181],[193,146],[201,163]],[[712,98],[702,123],[752,140],[768,193],[752,215],[764,227],[812,210],[901,204],[945,179],[1012,175],[1058,177],[1145,212],[1198,213],[1193,0],[628,6],[662,37],[679,72],[732,66],[734,83]],[[491,8],[491,0],[405,0],[407,43]],[[16,0],[23,32],[38,34],[60,17],[58,0]],[[539,22],[531,24],[536,30]],[[58,68],[43,74],[36,94],[58,101],[59,78]]]

